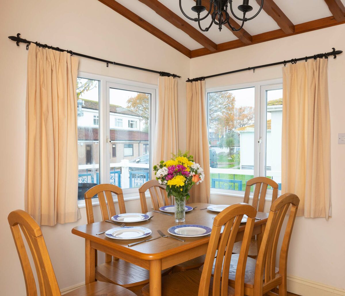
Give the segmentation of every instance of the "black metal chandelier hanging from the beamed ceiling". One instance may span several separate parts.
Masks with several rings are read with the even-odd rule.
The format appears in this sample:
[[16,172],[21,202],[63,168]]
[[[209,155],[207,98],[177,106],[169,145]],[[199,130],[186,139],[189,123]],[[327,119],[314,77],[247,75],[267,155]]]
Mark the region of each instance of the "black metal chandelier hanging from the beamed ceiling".
[[[191,10],[193,10],[194,12],[196,12],[198,14],[197,18],[190,18],[187,16],[187,14],[183,11],[182,6],[181,6],[181,0],[180,0],[180,9],[181,12],[183,13],[183,15],[192,21],[196,21],[198,22],[199,28],[201,31],[203,32],[207,32],[211,26],[213,25],[213,23],[215,23],[216,25],[218,25],[219,31],[221,31],[221,26],[224,24],[228,24],[229,27],[231,28],[231,30],[233,31],[239,31],[243,28],[243,25],[246,21],[252,20],[254,19],[261,11],[263,5],[264,5],[264,0],[261,0],[261,5],[260,5],[260,9],[257,13],[255,13],[255,15],[251,18],[246,18],[246,13],[249,11],[253,10],[253,7],[249,5],[249,0],[243,0],[243,4],[238,6],[238,10],[243,12],[243,18],[239,18],[236,16],[236,14],[233,11],[233,7],[232,7],[232,2],[233,0],[210,0],[210,8],[208,9],[208,12],[206,14],[206,16],[200,18],[200,13],[206,10],[206,7],[201,5],[201,0],[196,0],[196,5],[193,6],[191,8]],[[229,23],[229,13],[228,13],[228,4],[230,4],[230,11],[231,14],[238,19],[239,21],[242,21],[241,26],[238,29],[235,29],[233,26],[231,26],[231,24]],[[213,7],[213,13],[211,13]],[[211,14],[212,17],[212,21],[210,23],[210,25],[208,27],[206,27],[205,29],[201,28],[200,26],[200,21],[206,19],[209,14]]]

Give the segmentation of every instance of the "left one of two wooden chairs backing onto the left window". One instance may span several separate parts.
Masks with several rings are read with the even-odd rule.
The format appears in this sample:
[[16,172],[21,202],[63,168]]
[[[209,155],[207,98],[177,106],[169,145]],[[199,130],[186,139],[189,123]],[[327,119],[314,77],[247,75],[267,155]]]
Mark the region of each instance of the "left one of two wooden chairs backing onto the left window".
[[[91,203],[91,198],[95,195],[98,196],[103,221],[109,220],[112,216],[116,215],[111,193],[117,195],[120,214],[126,213],[124,195],[122,194],[122,189],[120,187],[112,184],[96,185],[86,191],[84,195],[88,224],[95,222]],[[110,226],[111,224],[109,224],[109,227]],[[113,226],[116,227],[116,225]],[[112,256],[109,254],[106,254],[106,263],[97,265],[96,250],[95,262],[95,277],[101,282],[116,284],[128,288],[131,291],[141,289],[149,282],[149,271],[147,269],[128,263],[122,259],[112,258]],[[169,270],[164,270],[163,274],[166,274],[167,272],[169,272]]]

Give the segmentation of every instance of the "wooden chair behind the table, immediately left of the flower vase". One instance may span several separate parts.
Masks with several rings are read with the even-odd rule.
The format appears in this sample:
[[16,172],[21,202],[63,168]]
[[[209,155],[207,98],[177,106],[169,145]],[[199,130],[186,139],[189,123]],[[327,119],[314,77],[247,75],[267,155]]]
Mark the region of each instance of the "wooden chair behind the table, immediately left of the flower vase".
[[[168,198],[166,186],[159,184],[157,180],[150,180],[145,182],[139,188],[140,204],[142,213],[147,213],[147,203],[145,193],[147,190],[150,192],[151,202],[153,209],[158,211],[160,207],[172,205],[172,201]],[[205,255],[188,260],[184,263],[174,266],[174,272],[180,272],[188,269],[198,269],[205,262]]]

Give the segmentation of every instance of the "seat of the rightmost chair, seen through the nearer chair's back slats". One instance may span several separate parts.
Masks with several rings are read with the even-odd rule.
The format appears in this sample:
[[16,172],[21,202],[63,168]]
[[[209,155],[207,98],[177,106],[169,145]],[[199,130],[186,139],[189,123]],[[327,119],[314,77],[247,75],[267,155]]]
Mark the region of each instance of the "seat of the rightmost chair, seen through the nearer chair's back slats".
[[[231,256],[231,263],[229,269],[229,284],[231,286],[235,285],[235,276],[236,276],[236,268],[238,263],[239,254],[233,254]],[[213,267],[212,267],[212,275],[214,273],[214,268],[216,264],[216,259],[214,260]],[[247,264],[246,264],[246,272],[244,275],[244,286],[247,288],[254,288],[254,275],[255,275],[255,266],[256,266],[256,259],[247,257]],[[201,266],[199,270],[203,270],[204,266]],[[275,268],[276,273],[278,273],[279,268]],[[265,275],[264,275],[265,279]]]

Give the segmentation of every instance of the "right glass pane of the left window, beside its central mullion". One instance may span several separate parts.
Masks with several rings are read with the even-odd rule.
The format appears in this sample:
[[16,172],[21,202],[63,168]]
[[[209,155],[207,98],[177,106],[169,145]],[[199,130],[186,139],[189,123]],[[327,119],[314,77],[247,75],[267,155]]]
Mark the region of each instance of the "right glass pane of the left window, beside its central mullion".
[[140,187],[149,180],[150,96],[109,89],[110,140],[116,144],[116,156],[110,153],[110,183],[123,189]]

